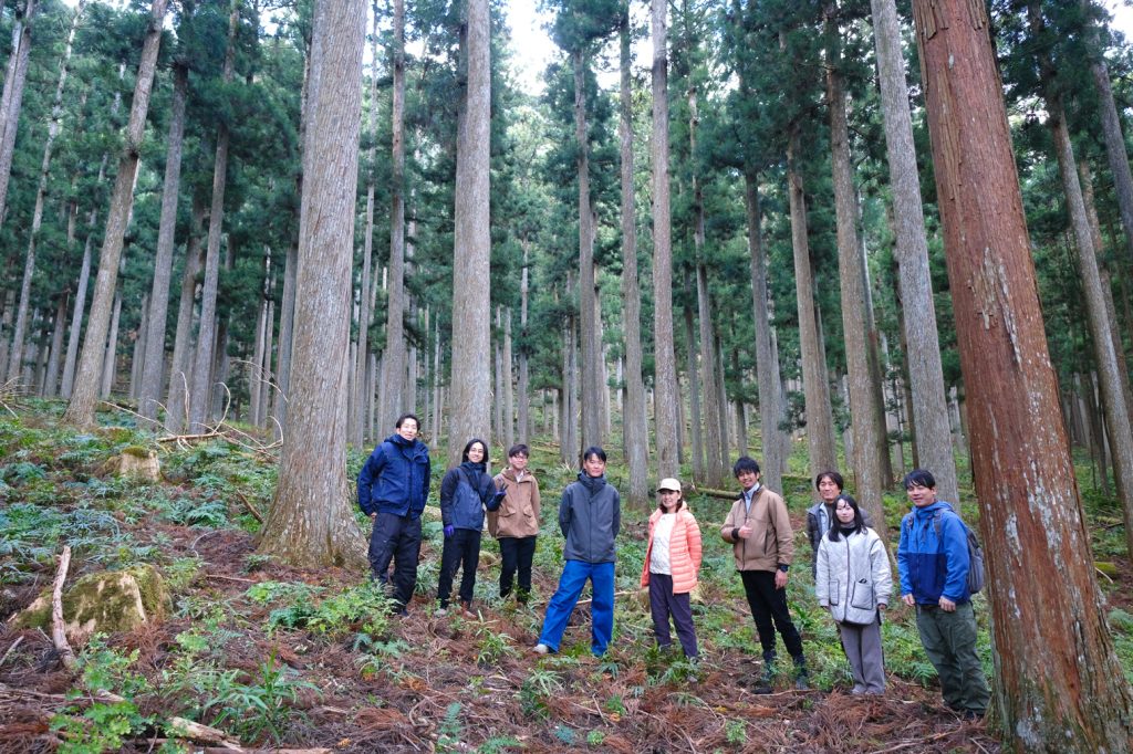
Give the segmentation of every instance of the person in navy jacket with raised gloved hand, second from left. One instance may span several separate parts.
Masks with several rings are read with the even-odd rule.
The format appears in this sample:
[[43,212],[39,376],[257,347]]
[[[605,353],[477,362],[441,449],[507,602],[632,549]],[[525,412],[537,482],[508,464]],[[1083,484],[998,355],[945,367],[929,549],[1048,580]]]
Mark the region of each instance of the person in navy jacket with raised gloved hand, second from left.
[[480,559],[480,532],[484,531],[484,509],[500,507],[503,492],[497,492],[487,474],[488,446],[472,438],[465,445],[463,461],[450,469],[441,481],[441,521],[444,524],[444,549],[441,552],[441,576],[436,598],[441,602],[437,615],[449,611],[452,577],[463,568],[460,577],[460,606],[466,618],[471,611],[472,591],[476,589],[476,566]]

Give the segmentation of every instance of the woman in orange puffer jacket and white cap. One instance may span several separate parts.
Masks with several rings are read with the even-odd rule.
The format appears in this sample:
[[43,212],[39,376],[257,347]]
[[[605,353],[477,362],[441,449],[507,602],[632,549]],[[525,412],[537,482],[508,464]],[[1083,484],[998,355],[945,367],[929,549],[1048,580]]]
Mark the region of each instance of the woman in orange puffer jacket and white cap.
[[662,479],[657,497],[657,509],[649,516],[649,546],[641,567],[641,585],[649,588],[657,646],[664,650],[672,645],[668,633],[672,617],[684,657],[691,659],[698,652],[689,594],[696,589],[700,572],[700,526],[684,504],[680,481]]

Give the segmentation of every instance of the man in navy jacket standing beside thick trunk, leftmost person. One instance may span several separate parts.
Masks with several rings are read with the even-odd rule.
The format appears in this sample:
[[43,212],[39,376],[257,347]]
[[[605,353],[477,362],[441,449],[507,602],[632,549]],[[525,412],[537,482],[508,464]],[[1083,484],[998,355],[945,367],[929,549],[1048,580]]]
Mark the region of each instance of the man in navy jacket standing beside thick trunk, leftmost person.
[[374,522],[369,535],[372,577],[387,584],[393,560],[398,615],[406,615],[417,586],[421,512],[432,471],[428,446],[417,439],[419,426],[411,413],[398,419],[398,431],[374,448],[358,474],[358,506]]

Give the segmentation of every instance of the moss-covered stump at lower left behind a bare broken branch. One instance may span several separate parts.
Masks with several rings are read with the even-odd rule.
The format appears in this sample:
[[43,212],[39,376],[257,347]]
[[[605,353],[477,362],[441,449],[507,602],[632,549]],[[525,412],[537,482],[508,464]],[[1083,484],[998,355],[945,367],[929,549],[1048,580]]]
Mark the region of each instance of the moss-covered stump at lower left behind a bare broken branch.
[[[63,592],[63,622],[69,639],[117,633],[164,618],[170,597],[157,569],[150,565],[101,571],[83,576]],[[51,589],[12,618],[14,628],[51,629]]]

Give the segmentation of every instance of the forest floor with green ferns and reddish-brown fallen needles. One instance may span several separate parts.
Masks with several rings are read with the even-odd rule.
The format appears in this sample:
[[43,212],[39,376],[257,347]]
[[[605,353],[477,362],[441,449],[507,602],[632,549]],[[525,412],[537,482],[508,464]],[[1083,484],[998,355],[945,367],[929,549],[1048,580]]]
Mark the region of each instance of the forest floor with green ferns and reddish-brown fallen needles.
[[[440,523],[429,521],[418,593],[409,615],[398,618],[387,614],[364,573],[295,569],[255,552],[258,522],[250,508],[267,508],[275,474],[270,452],[223,438],[170,449],[176,445],[159,444],[131,427],[77,434],[58,423],[61,404],[26,403],[15,418],[0,419],[0,752],[225,751],[216,745],[190,749],[171,737],[164,723],[174,714],[224,730],[245,751],[1002,748],[994,712],[971,722],[944,708],[911,611],[897,608],[887,616],[886,694],[849,694],[836,633],[813,598],[801,533],[810,495],[801,474],[785,482],[798,542],[789,600],[804,637],[811,687],[795,691],[784,667],[773,693],[760,694],[758,642],[730,547],[717,533],[725,500],[690,496],[705,534],[700,599],[693,608],[698,665],[654,646],[637,589],[647,512],[630,509],[623,511],[619,539],[610,652],[591,657],[582,606],[562,651],[539,657],[531,646],[561,568],[561,537],[548,524],[559,492],[573,475],[547,448],[537,449],[531,463],[544,496],[531,603],[499,599],[499,549],[485,534],[476,617],[459,610],[436,617],[442,535]],[[100,419],[129,423],[121,413]],[[160,481],[101,473],[129,446],[161,449]],[[364,457],[351,453],[351,474]],[[613,454],[610,469],[615,483],[624,481]],[[1123,551],[1122,531],[1110,525],[1106,498],[1096,497],[1099,559],[1114,562],[1110,550]],[[906,504],[894,494],[886,507],[895,535]],[[971,515],[968,506],[965,515]],[[9,628],[20,609],[50,589],[63,545],[75,552],[68,583],[83,573],[148,563],[159,567],[172,593],[163,618],[76,642],[78,675],[61,663],[50,626]],[[1116,567],[1104,589],[1128,672],[1130,569],[1124,560]],[[983,600],[977,602],[980,652],[990,671]],[[100,701],[99,689],[126,701]]]

